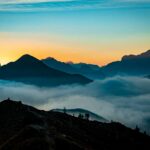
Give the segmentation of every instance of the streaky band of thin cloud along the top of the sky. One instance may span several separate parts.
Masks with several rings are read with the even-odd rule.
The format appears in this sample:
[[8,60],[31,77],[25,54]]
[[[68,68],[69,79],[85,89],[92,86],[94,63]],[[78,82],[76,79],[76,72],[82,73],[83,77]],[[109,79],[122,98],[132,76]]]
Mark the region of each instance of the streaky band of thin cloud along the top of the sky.
[[150,0],[1,0],[1,11],[54,11],[148,7]]

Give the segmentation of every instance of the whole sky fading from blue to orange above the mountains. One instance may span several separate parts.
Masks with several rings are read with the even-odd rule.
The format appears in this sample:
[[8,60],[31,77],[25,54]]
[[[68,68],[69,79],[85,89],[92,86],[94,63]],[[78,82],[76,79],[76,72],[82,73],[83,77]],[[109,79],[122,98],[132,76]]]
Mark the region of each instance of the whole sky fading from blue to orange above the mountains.
[[29,53],[105,65],[150,49],[150,0],[0,0],[0,62]]

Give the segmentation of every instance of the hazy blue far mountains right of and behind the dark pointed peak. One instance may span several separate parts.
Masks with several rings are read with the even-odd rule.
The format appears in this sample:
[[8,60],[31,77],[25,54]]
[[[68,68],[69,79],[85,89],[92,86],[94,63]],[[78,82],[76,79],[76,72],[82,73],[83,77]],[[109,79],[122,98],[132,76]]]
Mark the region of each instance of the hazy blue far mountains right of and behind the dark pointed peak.
[[65,63],[51,57],[42,61],[51,68],[70,74],[81,74],[92,80],[114,75],[145,76],[150,74],[150,50],[139,55],[125,55],[121,61],[115,61],[103,67],[86,63]]

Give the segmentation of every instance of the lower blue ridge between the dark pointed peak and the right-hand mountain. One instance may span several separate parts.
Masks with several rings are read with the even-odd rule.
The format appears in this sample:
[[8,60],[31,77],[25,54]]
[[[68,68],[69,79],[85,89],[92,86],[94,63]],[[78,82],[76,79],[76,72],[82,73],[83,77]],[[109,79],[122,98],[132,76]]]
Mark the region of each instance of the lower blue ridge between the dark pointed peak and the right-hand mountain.
[[51,57],[43,59],[42,61],[51,68],[70,74],[80,74],[92,80],[103,79],[105,77],[101,71],[101,68],[97,65],[86,63],[64,63]]

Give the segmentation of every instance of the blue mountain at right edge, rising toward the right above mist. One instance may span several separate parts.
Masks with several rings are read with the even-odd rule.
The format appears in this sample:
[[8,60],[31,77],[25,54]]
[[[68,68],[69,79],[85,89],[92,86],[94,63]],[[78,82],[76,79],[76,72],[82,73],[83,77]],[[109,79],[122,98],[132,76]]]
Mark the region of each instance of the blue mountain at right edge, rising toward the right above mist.
[[112,62],[102,67],[107,76],[135,75],[144,76],[150,74],[150,50],[139,55],[123,56],[121,61]]

